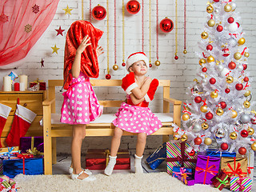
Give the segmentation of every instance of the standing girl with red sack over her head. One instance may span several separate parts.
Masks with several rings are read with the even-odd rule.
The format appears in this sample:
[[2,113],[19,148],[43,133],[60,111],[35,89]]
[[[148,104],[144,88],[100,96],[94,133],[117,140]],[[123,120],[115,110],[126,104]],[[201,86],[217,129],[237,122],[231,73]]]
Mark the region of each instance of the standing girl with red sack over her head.
[[95,28],[90,22],[76,21],[72,23],[66,34],[64,57],[64,101],[62,104],[61,122],[73,125],[70,174],[72,179],[94,181],[96,178],[89,170],[81,167],[81,146],[86,136],[86,124],[94,121],[102,114],[89,78],[98,78],[98,56],[102,47],[98,40],[102,30]]

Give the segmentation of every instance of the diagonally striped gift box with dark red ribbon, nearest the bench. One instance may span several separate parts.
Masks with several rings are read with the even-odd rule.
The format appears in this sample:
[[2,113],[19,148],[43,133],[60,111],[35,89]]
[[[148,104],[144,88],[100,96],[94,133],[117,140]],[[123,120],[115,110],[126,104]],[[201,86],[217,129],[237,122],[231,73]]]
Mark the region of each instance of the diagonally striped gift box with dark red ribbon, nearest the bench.
[[166,142],[166,162],[167,173],[173,174],[174,166],[186,166],[188,168],[194,168],[197,162],[198,154],[189,154],[187,148],[190,147],[186,142]]

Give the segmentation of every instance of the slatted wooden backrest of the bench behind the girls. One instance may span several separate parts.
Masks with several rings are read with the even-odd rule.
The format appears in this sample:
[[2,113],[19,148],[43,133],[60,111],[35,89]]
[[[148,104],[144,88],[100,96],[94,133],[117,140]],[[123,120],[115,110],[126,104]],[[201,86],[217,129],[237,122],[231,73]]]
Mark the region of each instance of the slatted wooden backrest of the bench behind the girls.
[[[90,84],[92,86],[121,86],[122,80],[121,79],[90,79]],[[55,87],[56,86],[62,86],[63,80],[49,80],[48,81],[48,90],[49,90],[49,98],[53,99],[55,98]],[[170,98],[170,80],[159,80],[159,86],[163,87],[163,97]],[[100,105],[104,107],[119,107],[123,100],[103,100],[99,101]],[[168,106],[165,106],[164,102],[164,110],[169,108]],[[51,106],[52,113],[55,113],[55,102],[52,103]],[[167,110],[167,109],[166,109]]]

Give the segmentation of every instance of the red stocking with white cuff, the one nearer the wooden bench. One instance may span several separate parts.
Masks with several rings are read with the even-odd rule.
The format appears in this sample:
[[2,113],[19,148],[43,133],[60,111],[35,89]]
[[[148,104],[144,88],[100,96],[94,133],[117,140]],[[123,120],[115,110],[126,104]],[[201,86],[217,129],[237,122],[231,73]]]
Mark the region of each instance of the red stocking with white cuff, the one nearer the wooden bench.
[[14,121],[11,125],[10,133],[6,138],[8,146],[19,146],[20,138],[24,137],[26,131],[30,128],[31,122],[34,121],[35,114],[33,111],[26,109],[24,106],[17,105]]

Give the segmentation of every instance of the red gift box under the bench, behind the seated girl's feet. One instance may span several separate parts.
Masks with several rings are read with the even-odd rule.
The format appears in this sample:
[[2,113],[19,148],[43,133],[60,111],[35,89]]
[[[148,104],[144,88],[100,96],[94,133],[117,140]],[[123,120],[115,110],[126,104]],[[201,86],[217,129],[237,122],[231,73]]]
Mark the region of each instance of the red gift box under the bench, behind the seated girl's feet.
[[[109,162],[110,150],[88,150],[86,154],[86,169],[105,170]],[[114,170],[130,170],[130,153],[128,150],[118,150]]]

